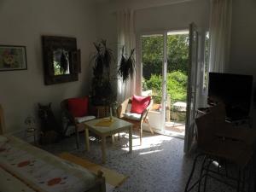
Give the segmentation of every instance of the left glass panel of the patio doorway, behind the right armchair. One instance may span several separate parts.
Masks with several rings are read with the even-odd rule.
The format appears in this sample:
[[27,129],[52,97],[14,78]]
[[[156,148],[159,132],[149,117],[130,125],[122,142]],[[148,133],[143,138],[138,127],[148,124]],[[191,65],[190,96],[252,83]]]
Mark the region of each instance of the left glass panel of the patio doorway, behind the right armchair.
[[143,65],[143,96],[152,96],[153,108],[148,113],[149,123],[161,130],[162,124],[162,72],[164,61],[164,35],[153,34],[141,37]]

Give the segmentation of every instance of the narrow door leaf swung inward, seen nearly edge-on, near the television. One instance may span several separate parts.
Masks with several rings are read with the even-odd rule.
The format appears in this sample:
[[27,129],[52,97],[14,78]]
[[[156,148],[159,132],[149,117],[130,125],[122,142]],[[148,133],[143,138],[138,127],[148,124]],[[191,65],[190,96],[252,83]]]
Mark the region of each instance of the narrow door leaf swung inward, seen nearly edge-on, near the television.
[[185,128],[184,152],[189,153],[195,139],[195,113],[198,66],[198,32],[195,24],[189,25],[189,79],[187,91],[187,118]]

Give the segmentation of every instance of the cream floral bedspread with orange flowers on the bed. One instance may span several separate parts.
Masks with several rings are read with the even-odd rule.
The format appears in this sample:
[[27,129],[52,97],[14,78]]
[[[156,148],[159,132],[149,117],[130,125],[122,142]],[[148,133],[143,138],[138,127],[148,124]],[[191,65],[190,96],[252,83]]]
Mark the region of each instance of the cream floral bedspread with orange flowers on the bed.
[[94,186],[96,180],[96,176],[83,167],[16,137],[0,136],[0,172],[8,172],[38,192],[84,192]]

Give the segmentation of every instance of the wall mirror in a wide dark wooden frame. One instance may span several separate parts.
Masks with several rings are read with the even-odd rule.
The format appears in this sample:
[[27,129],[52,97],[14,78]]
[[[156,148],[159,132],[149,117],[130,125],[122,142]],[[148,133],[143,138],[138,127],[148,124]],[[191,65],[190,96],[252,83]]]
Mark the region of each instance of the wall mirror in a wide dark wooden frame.
[[44,84],[77,81],[81,70],[76,38],[43,36]]

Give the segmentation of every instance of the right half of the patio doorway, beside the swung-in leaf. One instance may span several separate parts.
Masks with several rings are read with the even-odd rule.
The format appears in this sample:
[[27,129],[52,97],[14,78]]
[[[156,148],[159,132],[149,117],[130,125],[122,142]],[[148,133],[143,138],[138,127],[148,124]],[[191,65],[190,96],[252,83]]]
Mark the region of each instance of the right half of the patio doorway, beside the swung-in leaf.
[[185,134],[188,62],[189,31],[167,32],[165,130],[179,137]]

